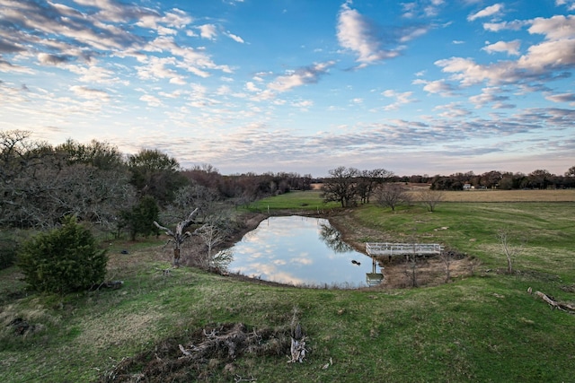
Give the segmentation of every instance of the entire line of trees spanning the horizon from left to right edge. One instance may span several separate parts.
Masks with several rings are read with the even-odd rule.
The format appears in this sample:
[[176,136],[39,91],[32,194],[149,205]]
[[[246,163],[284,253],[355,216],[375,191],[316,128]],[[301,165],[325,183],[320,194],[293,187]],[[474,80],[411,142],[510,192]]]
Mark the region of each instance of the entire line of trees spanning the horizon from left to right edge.
[[376,190],[379,200],[391,198],[393,203],[396,193],[390,187],[383,193],[381,187],[393,183],[426,183],[431,190],[462,190],[465,185],[575,187],[575,166],[562,176],[547,170],[397,176],[385,169],[343,166],[320,179],[289,172],[222,175],[209,164],[183,169],[175,158],[156,149],[124,154],[95,140],[50,145],[31,140],[31,132],[0,131],[0,227],[49,228],[75,215],[81,222],[135,238],[157,233],[151,222],[177,222],[195,207],[199,220],[207,220],[223,205],[249,206],[264,196],[310,189],[314,182],[323,182],[326,201],[347,207],[369,203]]

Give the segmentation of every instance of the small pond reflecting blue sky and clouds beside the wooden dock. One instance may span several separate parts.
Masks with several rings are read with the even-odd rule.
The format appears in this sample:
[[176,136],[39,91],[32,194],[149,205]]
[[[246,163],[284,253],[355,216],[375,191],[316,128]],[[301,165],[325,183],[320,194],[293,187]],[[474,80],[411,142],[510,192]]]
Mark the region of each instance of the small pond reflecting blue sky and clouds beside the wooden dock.
[[367,286],[373,267],[371,258],[341,241],[328,220],[296,215],[262,221],[231,252],[230,272],[295,285]]

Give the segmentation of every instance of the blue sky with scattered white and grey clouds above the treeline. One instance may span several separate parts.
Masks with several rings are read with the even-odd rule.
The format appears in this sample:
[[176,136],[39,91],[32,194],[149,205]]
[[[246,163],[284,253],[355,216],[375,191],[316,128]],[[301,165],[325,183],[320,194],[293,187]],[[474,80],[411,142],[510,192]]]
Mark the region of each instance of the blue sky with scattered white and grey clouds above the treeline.
[[575,165],[575,0],[0,0],[0,129],[223,174]]

